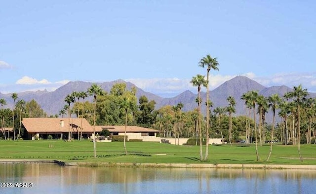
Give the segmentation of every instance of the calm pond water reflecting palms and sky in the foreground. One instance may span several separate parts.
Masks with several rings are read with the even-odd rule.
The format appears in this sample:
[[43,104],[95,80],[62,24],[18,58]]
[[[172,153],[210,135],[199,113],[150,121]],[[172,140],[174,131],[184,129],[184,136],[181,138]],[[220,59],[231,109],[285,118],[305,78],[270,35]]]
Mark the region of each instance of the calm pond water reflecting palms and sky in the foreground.
[[32,188],[0,188],[5,194],[282,194],[314,193],[313,170],[61,167],[56,164],[0,164],[1,183],[33,183]]

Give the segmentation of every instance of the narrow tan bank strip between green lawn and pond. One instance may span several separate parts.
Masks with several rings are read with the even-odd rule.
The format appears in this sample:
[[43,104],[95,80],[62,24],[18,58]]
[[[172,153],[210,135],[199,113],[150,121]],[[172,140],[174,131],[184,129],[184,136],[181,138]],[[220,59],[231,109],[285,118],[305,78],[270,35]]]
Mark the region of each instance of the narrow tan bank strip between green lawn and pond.
[[55,163],[60,166],[87,167],[143,167],[143,168],[234,168],[234,169],[307,169],[316,170],[316,165],[296,164],[184,164],[184,163],[126,163],[126,162],[64,162],[45,159],[0,159],[0,163]]

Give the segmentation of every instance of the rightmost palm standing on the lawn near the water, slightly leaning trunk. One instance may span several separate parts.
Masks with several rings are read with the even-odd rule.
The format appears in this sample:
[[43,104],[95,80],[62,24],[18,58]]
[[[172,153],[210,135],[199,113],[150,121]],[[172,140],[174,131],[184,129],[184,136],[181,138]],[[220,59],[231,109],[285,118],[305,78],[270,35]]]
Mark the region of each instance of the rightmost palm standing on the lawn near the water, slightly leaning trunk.
[[300,156],[301,162],[303,162],[303,157],[301,155],[300,141],[301,141],[301,115],[300,108],[303,98],[308,95],[307,89],[303,89],[302,85],[294,86],[293,91],[290,92],[290,97],[294,98],[294,102],[297,106],[296,118],[297,118],[297,150]]

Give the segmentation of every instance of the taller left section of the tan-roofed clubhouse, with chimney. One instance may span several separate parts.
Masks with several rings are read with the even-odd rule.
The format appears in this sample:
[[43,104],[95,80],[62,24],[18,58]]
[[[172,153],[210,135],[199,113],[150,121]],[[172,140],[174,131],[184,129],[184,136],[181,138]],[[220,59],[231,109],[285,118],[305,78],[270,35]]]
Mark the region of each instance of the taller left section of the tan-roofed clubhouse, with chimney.
[[47,139],[51,135],[53,139],[78,139],[82,132],[83,138],[90,138],[93,127],[85,118],[23,118],[22,124],[28,133],[28,139]]

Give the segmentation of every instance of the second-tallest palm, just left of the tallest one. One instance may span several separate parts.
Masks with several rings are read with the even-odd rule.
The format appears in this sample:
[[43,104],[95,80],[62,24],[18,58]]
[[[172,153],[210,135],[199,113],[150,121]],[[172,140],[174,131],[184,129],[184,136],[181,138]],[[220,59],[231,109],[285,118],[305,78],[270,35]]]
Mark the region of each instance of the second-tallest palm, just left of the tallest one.
[[201,91],[201,85],[205,85],[205,79],[204,76],[197,74],[196,77],[193,77],[190,81],[193,86],[197,86],[197,115],[198,115],[198,130],[199,130],[199,147],[200,147],[200,161],[203,161],[203,152],[202,152],[202,131],[201,131],[201,118],[200,118],[200,112],[201,112],[201,97],[200,97],[200,91]]

